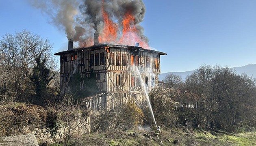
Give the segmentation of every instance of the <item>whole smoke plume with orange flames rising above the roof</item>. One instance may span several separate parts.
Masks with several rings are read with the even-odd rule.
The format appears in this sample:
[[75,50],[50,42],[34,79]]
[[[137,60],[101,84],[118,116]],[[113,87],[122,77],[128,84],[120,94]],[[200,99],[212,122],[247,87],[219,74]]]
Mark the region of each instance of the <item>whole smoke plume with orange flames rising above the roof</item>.
[[149,48],[148,38],[139,25],[145,16],[142,0],[30,1],[50,16],[52,24],[65,30],[68,40],[78,41],[80,47],[93,43],[135,45],[139,42]]

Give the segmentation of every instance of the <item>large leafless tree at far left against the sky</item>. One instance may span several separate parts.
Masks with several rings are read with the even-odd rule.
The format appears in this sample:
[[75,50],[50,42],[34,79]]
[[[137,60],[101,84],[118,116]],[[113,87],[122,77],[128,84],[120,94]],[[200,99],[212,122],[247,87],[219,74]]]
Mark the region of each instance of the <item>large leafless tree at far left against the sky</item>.
[[56,69],[52,55],[52,44],[49,40],[33,34],[28,30],[5,34],[0,39],[0,84],[6,83],[9,97],[20,101],[35,94],[35,86],[29,75],[36,66],[37,58],[46,59],[45,67],[51,71]]

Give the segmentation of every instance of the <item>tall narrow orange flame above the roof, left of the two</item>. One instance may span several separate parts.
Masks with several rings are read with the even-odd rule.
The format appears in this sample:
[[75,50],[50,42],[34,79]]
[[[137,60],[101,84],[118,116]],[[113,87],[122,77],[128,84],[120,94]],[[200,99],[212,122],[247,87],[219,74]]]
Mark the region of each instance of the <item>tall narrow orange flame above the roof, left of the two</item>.
[[106,11],[104,11],[103,6],[104,0],[102,0],[102,17],[104,21],[104,29],[102,34],[99,36],[99,43],[111,43],[115,42],[117,39],[117,29],[118,26],[115,24],[108,16]]

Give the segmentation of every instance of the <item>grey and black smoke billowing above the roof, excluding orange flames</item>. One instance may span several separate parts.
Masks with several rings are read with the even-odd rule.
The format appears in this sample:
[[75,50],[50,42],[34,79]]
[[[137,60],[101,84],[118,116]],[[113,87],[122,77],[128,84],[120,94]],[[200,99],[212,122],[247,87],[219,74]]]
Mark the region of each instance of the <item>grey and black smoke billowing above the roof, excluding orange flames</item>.
[[[145,16],[145,5],[142,0],[30,0],[31,4],[51,18],[51,23],[65,30],[67,39],[79,41],[80,45],[92,45],[94,33],[104,33],[102,5],[113,21],[122,29],[125,13],[135,17],[137,34],[144,41],[143,27],[139,25]],[[121,36],[121,34],[119,34]]]

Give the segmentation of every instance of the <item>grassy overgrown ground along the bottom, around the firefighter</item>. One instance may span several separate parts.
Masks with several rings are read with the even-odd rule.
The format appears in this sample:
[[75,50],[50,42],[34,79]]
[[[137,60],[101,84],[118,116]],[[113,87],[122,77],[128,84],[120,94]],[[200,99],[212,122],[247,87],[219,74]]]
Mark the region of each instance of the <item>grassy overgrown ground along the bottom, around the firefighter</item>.
[[159,139],[152,131],[93,133],[73,139],[71,146],[256,146],[256,131],[214,132],[186,128],[162,129]]

